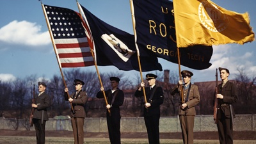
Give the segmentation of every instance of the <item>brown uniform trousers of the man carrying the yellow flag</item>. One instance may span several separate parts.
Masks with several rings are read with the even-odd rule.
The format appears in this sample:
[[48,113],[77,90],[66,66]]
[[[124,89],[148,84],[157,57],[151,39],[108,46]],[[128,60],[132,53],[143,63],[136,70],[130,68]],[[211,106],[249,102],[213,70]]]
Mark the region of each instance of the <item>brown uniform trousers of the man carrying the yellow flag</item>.
[[194,115],[179,115],[182,139],[184,144],[193,144]]

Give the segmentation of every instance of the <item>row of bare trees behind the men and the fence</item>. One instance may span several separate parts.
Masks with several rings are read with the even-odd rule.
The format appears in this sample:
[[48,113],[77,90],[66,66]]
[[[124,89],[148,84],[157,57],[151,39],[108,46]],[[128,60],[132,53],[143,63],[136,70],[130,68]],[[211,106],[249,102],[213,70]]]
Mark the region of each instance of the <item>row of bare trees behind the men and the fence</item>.
[[[237,69],[238,73],[236,78],[233,79],[237,84],[239,92],[238,102],[234,104],[236,114],[252,114],[256,113],[253,109],[256,98],[255,76],[247,76],[244,69]],[[161,116],[177,116],[179,108],[179,96],[170,95],[170,90],[177,84],[179,80],[178,72],[171,71],[168,73],[167,81],[166,74],[164,72],[155,73],[157,77],[157,83],[163,87],[164,90],[164,104],[161,106]],[[74,79],[81,79],[84,81],[83,90],[88,93],[90,99],[96,99],[96,93],[100,90],[99,77],[96,72],[81,71],[80,69],[73,68],[71,70],[64,71],[65,81],[69,92],[75,92]],[[129,92],[135,92],[136,88],[140,84],[140,75],[135,76],[135,79],[125,76],[122,72],[104,72],[100,74],[102,84],[105,90],[110,88],[109,77],[120,77],[121,81],[119,88],[121,90],[130,90]],[[192,77],[193,79],[193,77]],[[230,79],[229,79],[230,80]],[[46,92],[51,97],[51,106],[48,109],[50,118],[58,115],[69,115],[70,104],[64,99],[64,84],[61,76],[54,75],[51,79],[45,77],[37,77],[36,75],[17,78],[15,81],[0,81],[0,117],[26,119],[29,117],[31,111],[31,99],[33,98],[33,86],[35,84],[35,92],[38,94],[38,81],[44,81],[47,83]],[[147,82],[145,82],[147,83]],[[198,115],[212,115],[212,99],[214,95],[214,86],[212,84],[196,83],[200,91],[200,104],[198,104],[196,110]],[[133,90],[133,91],[132,91]],[[141,113],[135,113],[134,111],[141,111],[141,104],[138,98],[132,98],[134,101],[139,101],[134,104],[134,108],[126,109],[124,106],[124,115],[122,116],[140,116]],[[104,100],[102,105],[98,106],[99,113],[104,110]],[[128,107],[127,107],[128,108]],[[137,109],[138,108],[138,109]],[[101,110],[100,110],[101,109]],[[87,107],[86,111],[91,109]],[[127,115],[127,113],[133,113]],[[90,115],[89,115],[90,116]]]

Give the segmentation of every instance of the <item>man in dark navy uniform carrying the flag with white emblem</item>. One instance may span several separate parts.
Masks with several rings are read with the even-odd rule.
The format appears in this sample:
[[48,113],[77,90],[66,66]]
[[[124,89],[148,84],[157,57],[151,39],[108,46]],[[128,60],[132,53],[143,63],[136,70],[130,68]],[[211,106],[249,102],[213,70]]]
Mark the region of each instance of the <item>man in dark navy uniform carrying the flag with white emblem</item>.
[[[110,77],[111,89],[106,91],[106,97],[108,97],[107,109],[107,124],[108,134],[111,144],[121,144],[121,132],[120,132],[120,106],[124,103],[124,92],[118,88],[120,79],[118,77]],[[101,87],[97,93],[97,98],[103,98],[104,88]],[[110,110],[110,113],[109,113]]]

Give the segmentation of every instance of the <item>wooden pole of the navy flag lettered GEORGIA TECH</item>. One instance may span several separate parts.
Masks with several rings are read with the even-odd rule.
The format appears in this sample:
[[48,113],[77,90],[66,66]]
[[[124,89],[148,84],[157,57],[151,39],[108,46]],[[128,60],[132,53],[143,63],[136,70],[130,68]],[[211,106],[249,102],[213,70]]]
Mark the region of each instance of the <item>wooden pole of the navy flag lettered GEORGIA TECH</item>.
[[[130,7],[131,7],[132,28],[133,28],[133,32],[134,32],[135,47],[136,47],[136,51],[137,51],[138,64],[139,64],[139,68],[140,68],[140,77],[141,77],[141,82],[143,82],[143,76],[142,76],[142,70],[141,70],[141,63],[140,63],[140,51],[139,51],[138,45],[137,45],[137,43],[136,43],[137,35],[136,35],[136,29],[135,29],[134,8],[133,8],[133,1],[132,1],[132,0],[130,0]],[[146,97],[146,92],[145,92],[145,86],[143,86],[142,89],[143,89],[143,95],[144,95],[145,103],[147,103],[147,97]]]

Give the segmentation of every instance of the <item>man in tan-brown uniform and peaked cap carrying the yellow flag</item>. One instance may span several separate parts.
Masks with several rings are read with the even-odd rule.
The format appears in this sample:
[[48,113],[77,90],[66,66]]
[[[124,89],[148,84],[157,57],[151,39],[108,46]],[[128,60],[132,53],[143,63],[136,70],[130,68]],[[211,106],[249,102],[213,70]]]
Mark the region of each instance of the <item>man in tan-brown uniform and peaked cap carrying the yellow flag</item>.
[[193,76],[193,73],[188,70],[182,70],[180,73],[183,77],[184,84],[182,81],[179,81],[177,86],[173,88],[171,94],[175,95],[176,93],[179,93],[180,97],[183,96],[184,98],[183,100],[180,100],[181,104],[179,109],[182,139],[184,144],[193,144],[193,129],[196,115],[195,106],[200,102],[200,94],[198,87],[195,84],[191,84],[191,77]]

